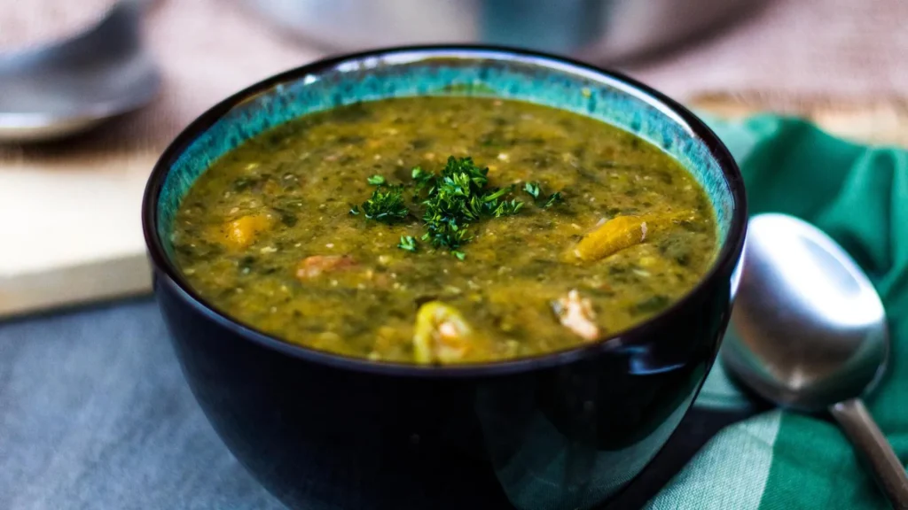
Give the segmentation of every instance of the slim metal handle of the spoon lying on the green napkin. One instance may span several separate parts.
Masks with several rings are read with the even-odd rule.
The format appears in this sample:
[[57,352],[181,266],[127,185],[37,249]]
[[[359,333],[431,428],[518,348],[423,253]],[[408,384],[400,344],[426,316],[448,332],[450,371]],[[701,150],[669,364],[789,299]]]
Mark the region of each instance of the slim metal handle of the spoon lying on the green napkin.
[[876,426],[860,398],[829,407],[852,445],[873,470],[876,482],[896,510],[908,510],[908,475],[893,447]]

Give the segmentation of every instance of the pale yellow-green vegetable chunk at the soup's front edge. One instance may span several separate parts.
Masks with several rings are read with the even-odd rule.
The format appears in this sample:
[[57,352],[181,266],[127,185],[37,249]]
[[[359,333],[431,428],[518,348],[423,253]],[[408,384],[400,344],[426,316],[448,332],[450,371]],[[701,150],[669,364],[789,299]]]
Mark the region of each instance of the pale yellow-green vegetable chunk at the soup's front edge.
[[418,363],[451,363],[465,358],[472,336],[467,321],[458,309],[439,301],[429,301],[416,314],[413,356]]

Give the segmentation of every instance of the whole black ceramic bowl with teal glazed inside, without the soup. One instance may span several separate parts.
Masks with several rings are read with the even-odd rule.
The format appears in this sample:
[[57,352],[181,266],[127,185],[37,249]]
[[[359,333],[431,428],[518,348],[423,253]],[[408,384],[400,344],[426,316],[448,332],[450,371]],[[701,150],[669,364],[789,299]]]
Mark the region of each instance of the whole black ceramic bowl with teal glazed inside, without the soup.
[[[211,162],[300,115],[391,96],[516,98],[636,132],[715,205],[721,248],[657,317],[595,345],[465,367],[344,358],[233,320],[186,282],[169,231]],[[589,508],[665,445],[716,359],[745,237],[735,162],[685,108],[619,74],[491,47],[379,50],[305,65],[217,104],[163,153],[143,228],[183,373],[233,454],[291,508]]]

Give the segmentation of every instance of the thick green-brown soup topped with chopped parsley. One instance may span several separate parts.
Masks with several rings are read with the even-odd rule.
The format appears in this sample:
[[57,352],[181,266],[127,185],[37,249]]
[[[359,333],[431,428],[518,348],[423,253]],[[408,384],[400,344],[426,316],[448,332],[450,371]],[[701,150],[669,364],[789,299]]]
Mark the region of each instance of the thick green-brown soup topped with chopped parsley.
[[172,236],[192,287],[243,323],[446,364],[646,319],[706,272],[716,219],[680,164],[630,133],[530,103],[419,97],[245,142],[193,184]]

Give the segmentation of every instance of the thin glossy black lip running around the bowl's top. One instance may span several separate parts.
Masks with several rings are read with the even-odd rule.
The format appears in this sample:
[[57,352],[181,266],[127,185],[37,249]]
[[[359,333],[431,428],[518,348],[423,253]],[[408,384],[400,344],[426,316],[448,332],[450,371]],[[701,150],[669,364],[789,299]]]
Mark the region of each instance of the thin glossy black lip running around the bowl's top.
[[[282,340],[277,336],[271,336],[252,326],[243,324],[238,319],[232,319],[226,313],[222,313],[212,306],[207,300],[203,299],[183,278],[182,273],[176,265],[170,260],[164,249],[162,240],[157,232],[158,226],[158,203],[163,190],[163,183],[170,172],[173,163],[183,154],[183,152],[195,141],[203,132],[208,130],[212,125],[222,119],[222,116],[229,113],[235,106],[240,105],[261,93],[266,93],[280,85],[304,78],[307,74],[318,74],[328,71],[338,64],[345,62],[359,62],[369,58],[382,58],[393,56],[395,54],[419,54],[425,58],[431,58],[433,54],[451,54],[462,53],[464,58],[470,54],[475,54],[476,58],[489,54],[498,54],[503,58],[508,56],[529,57],[533,59],[532,65],[539,65],[543,68],[564,70],[567,66],[583,74],[593,75],[599,79],[607,81],[617,81],[623,83],[639,93],[644,93],[656,103],[666,108],[668,111],[680,118],[690,128],[692,136],[699,138],[706,146],[712,157],[719,163],[722,170],[723,179],[728,186],[733,201],[730,224],[725,237],[725,243],[721,246],[716,255],[716,260],[706,271],[696,285],[689,289],[685,295],[672,303],[668,308],[663,309],[656,315],[638,323],[637,325],[617,331],[617,333],[600,338],[596,342],[576,346],[573,348],[562,349],[554,352],[538,354],[535,356],[514,358],[507,360],[491,361],[487,363],[469,363],[462,365],[417,365],[401,362],[373,361],[367,358],[355,358],[334,354],[328,351],[309,348],[300,344]],[[665,94],[656,91],[644,83],[628,77],[625,74],[613,70],[597,67],[593,64],[583,63],[565,56],[556,54],[547,54],[534,50],[515,48],[491,44],[418,44],[391,46],[385,48],[376,48],[363,52],[337,54],[325,57],[323,59],[295,67],[279,74],[271,75],[264,80],[253,83],[237,93],[232,93],[229,97],[216,103],[207,111],[199,115],[192,123],[180,132],[173,139],[158,161],[155,162],[153,170],[148,178],[143,193],[142,202],[142,227],[145,239],[145,245],[148,249],[148,256],[152,262],[153,276],[155,280],[155,293],[159,290],[158,285],[164,284],[177,292],[187,304],[193,309],[202,313],[208,319],[219,324],[225,329],[232,330],[245,340],[252,341],[264,348],[269,348],[292,358],[300,358],[311,363],[326,365],[333,368],[343,368],[358,372],[368,372],[375,374],[384,374],[401,377],[438,377],[438,378],[472,378],[485,376],[499,376],[537,370],[540,368],[552,368],[567,365],[583,358],[594,358],[597,354],[615,351],[619,348],[633,347],[635,344],[648,337],[656,331],[660,322],[666,319],[676,318],[685,309],[689,303],[696,299],[701,299],[715,282],[723,274],[732,274],[735,267],[741,260],[744,250],[745,233],[747,229],[747,201],[745,196],[744,178],[725,144],[721,142],[716,135],[703,121],[685,106],[667,97]]]

